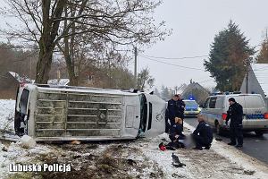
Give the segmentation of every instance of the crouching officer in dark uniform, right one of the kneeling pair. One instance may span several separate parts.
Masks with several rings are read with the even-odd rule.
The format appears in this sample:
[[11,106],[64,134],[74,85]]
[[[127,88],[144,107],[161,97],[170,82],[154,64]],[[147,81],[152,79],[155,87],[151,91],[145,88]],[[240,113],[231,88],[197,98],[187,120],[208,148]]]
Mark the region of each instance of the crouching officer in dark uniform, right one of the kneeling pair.
[[191,134],[192,139],[196,143],[196,148],[194,149],[202,150],[202,147],[210,149],[211,143],[214,139],[213,130],[205,123],[202,115],[197,115],[197,120],[199,122],[197,129]]

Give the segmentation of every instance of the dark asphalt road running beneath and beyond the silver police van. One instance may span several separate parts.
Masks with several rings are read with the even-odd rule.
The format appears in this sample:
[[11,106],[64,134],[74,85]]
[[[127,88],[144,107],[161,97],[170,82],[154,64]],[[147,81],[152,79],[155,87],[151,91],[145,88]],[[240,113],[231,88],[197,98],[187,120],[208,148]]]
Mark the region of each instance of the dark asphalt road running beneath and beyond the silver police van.
[[[184,120],[188,124],[197,127],[197,118],[185,118]],[[226,145],[230,142],[228,134],[219,136],[214,133],[215,138],[221,138]],[[268,133],[264,134],[263,137],[255,136],[254,132],[244,133],[244,144],[240,150],[268,165]]]

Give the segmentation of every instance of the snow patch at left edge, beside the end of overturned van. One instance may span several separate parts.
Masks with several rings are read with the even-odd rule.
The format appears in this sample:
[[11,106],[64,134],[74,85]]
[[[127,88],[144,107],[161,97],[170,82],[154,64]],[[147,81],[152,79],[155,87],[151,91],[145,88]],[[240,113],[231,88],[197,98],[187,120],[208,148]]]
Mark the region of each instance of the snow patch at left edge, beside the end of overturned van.
[[15,103],[16,101],[12,99],[0,99],[0,129],[5,131],[13,131]]

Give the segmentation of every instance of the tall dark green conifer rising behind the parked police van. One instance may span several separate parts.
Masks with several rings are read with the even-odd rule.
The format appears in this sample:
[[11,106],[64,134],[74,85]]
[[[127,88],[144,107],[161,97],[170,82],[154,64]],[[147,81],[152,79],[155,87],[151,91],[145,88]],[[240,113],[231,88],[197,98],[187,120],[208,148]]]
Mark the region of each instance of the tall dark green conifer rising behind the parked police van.
[[245,64],[254,54],[254,48],[249,47],[239,26],[230,21],[227,29],[215,36],[209,59],[204,63],[205,70],[211,73],[217,83],[216,89],[239,90],[247,70]]

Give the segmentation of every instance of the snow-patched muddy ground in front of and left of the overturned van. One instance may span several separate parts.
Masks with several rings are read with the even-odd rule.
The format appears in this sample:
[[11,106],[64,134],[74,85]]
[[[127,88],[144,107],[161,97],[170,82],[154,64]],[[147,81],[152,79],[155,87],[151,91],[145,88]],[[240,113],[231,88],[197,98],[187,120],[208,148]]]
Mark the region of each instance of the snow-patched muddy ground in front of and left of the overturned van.
[[[0,100],[2,129],[13,128],[13,100]],[[185,124],[185,133],[193,128]],[[268,167],[238,149],[214,141],[210,150],[158,149],[168,142],[162,134],[136,141],[81,144],[38,143],[25,149],[21,142],[0,141],[0,178],[268,178]],[[172,152],[186,166],[172,166]],[[9,172],[10,164],[70,164],[71,172]]]

